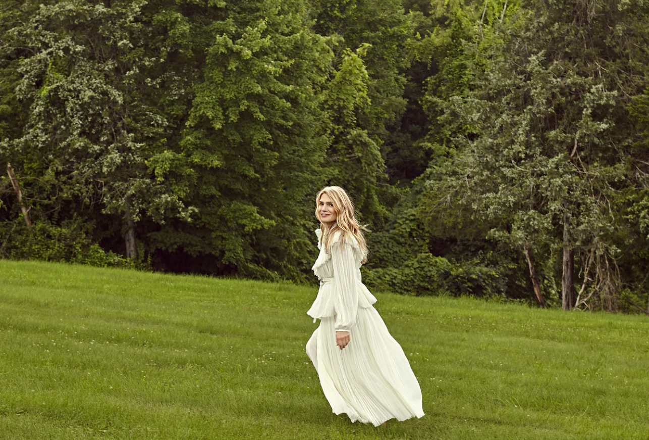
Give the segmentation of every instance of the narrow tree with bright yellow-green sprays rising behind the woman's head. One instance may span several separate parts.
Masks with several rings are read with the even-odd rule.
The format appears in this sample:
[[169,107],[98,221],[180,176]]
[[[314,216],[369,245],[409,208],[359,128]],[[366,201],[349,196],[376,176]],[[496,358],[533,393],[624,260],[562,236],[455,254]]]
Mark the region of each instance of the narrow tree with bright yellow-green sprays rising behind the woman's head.
[[[380,226],[386,203],[395,200],[386,158],[404,144],[397,144],[391,131],[406,110],[406,45],[415,21],[400,0],[313,0],[312,5],[314,29],[331,37],[335,56],[326,105],[332,120],[328,181],[347,187],[363,218]],[[343,102],[341,87],[362,99]]]

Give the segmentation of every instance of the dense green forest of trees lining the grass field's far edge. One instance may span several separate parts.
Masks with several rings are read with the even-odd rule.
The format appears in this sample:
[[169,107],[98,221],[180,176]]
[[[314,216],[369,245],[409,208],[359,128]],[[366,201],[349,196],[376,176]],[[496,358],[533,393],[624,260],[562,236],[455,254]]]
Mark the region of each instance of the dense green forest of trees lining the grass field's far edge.
[[[649,311],[643,0],[4,0],[0,257]],[[3,171],[3,174],[4,171]]]

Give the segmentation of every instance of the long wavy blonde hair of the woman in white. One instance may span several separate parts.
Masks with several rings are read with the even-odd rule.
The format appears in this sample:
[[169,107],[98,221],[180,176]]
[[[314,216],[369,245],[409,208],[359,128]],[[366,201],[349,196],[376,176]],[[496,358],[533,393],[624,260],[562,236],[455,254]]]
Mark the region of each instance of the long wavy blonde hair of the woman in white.
[[[326,194],[334,203],[336,210],[336,220],[334,222],[324,223],[318,216],[318,207],[320,198]],[[350,200],[347,192],[341,187],[324,187],[317,196],[315,196],[315,218],[320,221],[320,229],[323,231],[321,243],[324,243],[324,248],[329,249],[334,234],[337,231],[341,233],[341,239],[356,239],[360,250],[363,253],[363,263],[367,259],[367,242],[363,237],[363,231],[367,230],[367,225],[361,225],[356,220],[354,215],[354,203]]]

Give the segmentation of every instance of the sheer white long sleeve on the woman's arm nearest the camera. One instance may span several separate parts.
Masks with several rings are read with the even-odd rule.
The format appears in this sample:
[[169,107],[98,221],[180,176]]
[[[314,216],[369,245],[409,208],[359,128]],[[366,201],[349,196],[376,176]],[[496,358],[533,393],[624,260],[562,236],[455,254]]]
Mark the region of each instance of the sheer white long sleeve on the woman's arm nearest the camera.
[[356,320],[358,309],[358,289],[356,289],[356,266],[354,249],[345,239],[340,239],[332,246],[331,259],[334,265],[334,283],[336,300],[336,331],[349,331]]

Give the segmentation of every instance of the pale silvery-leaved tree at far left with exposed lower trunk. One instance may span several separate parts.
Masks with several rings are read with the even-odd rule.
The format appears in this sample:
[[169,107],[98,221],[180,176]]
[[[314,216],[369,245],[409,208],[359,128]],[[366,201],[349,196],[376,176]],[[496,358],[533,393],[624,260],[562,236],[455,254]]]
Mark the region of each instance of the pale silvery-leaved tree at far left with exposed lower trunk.
[[147,73],[162,60],[143,48],[146,1],[60,1],[34,6],[12,30],[30,48],[17,94],[29,122],[3,149],[18,157],[27,194],[42,211],[99,205],[121,219],[125,254],[136,255],[136,222],[189,220],[182,191],[158,181],[148,161],[164,148],[165,116]]

